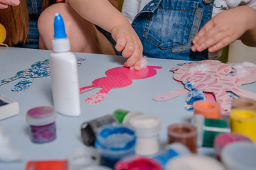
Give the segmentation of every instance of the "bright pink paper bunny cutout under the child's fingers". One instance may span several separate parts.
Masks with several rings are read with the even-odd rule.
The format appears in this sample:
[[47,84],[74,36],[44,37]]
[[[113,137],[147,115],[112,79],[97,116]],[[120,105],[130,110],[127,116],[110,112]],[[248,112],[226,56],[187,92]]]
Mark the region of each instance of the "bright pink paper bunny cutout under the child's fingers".
[[91,86],[81,87],[80,94],[97,87],[102,87],[102,89],[98,91],[97,94],[94,94],[85,100],[86,103],[90,104],[99,103],[100,101],[104,100],[111,89],[129,86],[132,84],[133,79],[146,79],[153,77],[156,75],[156,69],[161,68],[162,67],[158,66],[147,66],[146,68],[140,69],[139,71],[126,67],[116,67],[109,69],[107,72],[105,72],[107,77],[95,79],[92,81]]

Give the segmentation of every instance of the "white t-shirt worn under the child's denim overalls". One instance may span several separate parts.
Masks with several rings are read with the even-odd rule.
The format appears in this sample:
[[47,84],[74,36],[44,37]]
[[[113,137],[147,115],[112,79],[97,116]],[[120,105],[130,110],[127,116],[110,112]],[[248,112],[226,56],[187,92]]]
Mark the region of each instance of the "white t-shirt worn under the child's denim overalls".
[[[132,23],[134,17],[139,13],[139,11],[142,11],[142,8],[144,8],[144,6],[146,6],[150,1],[151,0],[124,0],[122,14],[127,17],[130,23]],[[251,6],[256,9],[256,0],[215,0],[212,17],[225,9],[235,8],[242,5]],[[220,57],[221,53],[222,50],[208,52],[208,57],[209,59]]]

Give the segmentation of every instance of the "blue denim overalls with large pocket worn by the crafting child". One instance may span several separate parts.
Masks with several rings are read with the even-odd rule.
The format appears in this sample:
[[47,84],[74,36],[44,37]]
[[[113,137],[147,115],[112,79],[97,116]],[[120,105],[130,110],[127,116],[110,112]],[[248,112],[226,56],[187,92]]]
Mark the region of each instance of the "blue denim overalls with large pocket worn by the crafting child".
[[211,18],[214,0],[153,0],[134,18],[146,57],[206,60],[208,50],[192,52],[192,40]]

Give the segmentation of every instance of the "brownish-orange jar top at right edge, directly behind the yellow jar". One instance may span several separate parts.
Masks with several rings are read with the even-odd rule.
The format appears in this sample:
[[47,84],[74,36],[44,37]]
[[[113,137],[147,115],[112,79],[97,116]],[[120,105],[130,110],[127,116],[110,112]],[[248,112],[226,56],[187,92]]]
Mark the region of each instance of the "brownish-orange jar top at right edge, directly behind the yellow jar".
[[232,108],[256,111],[256,101],[249,98],[235,98],[232,100]]

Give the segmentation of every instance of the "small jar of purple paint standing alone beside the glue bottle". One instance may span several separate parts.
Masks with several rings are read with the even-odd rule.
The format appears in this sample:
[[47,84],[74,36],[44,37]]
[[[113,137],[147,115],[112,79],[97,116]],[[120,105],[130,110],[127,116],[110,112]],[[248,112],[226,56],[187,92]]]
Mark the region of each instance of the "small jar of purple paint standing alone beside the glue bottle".
[[50,106],[30,109],[26,114],[26,121],[30,125],[29,136],[32,142],[45,143],[55,140],[55,120],[57,113]]

